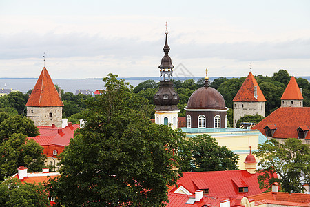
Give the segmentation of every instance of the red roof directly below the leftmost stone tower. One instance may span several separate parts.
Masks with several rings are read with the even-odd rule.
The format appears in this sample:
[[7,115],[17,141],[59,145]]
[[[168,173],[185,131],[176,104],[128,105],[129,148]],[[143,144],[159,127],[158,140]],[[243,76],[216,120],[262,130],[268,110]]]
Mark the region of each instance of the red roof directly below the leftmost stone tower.
[[70,144],[70,139],[73,137],[79,124],[68,123],[65,128],[52,128],[51,126],[38,126],[41,135],[37,137],[28,137],[34,139],[37,143],[43,146],[43,152],[48,157],[53,155],[53,150],[57,150],[58,154],[63,152],[65,146]]

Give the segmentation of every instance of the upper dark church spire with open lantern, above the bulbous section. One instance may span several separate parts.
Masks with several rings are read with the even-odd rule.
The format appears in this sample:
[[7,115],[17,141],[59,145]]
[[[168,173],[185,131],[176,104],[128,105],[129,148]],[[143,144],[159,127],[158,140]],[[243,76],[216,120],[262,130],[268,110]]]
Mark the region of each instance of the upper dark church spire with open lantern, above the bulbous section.
[[166,40],[165,40],[165,46],[163,47],[163,51],[165,52],[165,55],[161,59],[161,66],[159,66],[158,68],[160,68],[160,71],[161,71],[161,80],[165,80],[165,75],[167,75],[167,78],[170,81],[172,80],[172,70],[174,66],[172,65],[171,58],[168,55],[170,48],[168,46],[167,22],[166,22],[165,35],[166,35]]

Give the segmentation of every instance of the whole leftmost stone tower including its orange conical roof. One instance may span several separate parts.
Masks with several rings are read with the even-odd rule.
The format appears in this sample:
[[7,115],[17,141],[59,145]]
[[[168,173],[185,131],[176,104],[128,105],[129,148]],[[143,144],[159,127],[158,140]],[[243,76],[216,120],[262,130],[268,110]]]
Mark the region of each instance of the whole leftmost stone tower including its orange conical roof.
[[61,127],[63,102],[57,92],[48,70],[44,67],[26,103],[27,117],[35,126]]

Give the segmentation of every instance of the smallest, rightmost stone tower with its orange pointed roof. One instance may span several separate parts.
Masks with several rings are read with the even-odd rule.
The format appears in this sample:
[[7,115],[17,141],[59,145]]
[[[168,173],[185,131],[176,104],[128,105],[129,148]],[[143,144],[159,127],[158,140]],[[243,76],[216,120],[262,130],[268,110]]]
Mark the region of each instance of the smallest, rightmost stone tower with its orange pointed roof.
[[302,107],[304,97],[302,97],[302,89],[298,87],[294,76],[291,77],[285,92],[281,97],[282,107]]

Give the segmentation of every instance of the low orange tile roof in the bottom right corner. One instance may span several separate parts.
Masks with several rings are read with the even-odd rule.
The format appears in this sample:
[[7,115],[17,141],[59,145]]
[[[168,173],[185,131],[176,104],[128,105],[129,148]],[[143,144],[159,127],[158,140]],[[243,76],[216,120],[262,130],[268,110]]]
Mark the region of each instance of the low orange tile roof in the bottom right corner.
[[310,206],[310,194],[268,192],[249,196],[258,204],[278,204],[282,206]]

